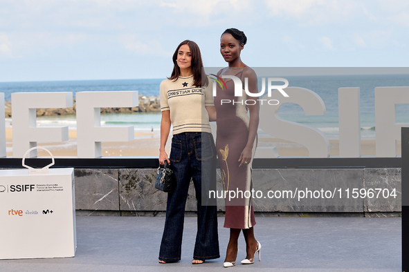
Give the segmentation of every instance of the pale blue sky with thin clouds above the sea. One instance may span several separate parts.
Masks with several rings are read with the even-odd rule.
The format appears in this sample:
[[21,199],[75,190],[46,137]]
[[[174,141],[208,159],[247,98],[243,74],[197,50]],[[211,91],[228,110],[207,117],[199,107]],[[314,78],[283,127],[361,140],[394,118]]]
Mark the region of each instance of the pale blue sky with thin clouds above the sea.
[[0,81],[164,78],[184,39],[226,66],[232,27],[248,66],[408,66],[408,0],[0,0]]

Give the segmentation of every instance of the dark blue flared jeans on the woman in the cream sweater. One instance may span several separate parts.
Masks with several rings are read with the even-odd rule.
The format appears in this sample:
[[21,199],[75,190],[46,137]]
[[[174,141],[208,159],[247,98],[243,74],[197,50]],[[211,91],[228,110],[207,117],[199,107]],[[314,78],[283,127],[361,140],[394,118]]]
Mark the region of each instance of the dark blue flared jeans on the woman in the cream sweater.
[[[217,234],[217,206],[203,201],[202,193],[212,188],[216,180],[216,148],[211,133],[180,133],[172,137],[170,168],[176,177],[176,187],[167,194],[165,229],[159,260],[181,260],[183,221],[190,179],[193,179],[197,199],[197,235],[194,260],[220,258]],[[203,192],[202,192],[203,188]],[[210,203],[211,204],[211,203]]]

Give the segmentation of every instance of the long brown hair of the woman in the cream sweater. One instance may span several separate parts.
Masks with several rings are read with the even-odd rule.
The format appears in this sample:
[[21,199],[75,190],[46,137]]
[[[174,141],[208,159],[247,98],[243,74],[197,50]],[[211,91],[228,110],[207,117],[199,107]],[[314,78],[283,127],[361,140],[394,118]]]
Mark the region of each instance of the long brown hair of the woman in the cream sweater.
[[[201,73],[202,73],[202,68],[203,68],[203,62],[201,61],[201,53],[199,46],[197,46],[197,43],[194,41],[190,40],[185,40],[182,41],[181,44],[176,48],[174,51],[172,60],[173,60],[173,70],[172,70],[172,75],[168,77],[167,79],[174,79],[176,81],[179,79],[179,75],[181,74],[181,68],[177,65],[177,56],[179,52],[179,48],[183,46],[183,44],[187,44],[190,48],[190,53],[192,54],[192,73],[193,73],[193,86],[198,86],[202,87],[202,81],[201,81]],[[203,78],[203,86],[208,86],[208,77]]]

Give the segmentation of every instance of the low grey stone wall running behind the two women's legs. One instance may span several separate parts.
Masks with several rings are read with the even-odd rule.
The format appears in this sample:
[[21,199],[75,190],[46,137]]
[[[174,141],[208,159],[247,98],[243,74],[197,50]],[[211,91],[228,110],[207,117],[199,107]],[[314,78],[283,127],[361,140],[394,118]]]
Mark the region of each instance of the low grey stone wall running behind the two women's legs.
[[[166,210],[167,195],[154,188],[156,169],[75,169],[75,199],[78,210],[120,211],[130,215],[161,213]],[[296,198],[253,200],[260,213],[379,213],[401,211],[400,168],[343,169],[254,169],[253,188],[263,194],[272,191],[308,190],[343,191],[342,199],[313,198],[307,202]],[[217,190],[223,190],[217,171]],[[350,188],[396,188],[397,199],[376,200],[345,196]],[[224,211],[224,200],[218,199],[218,211]],[[185,211],[196,211],[196,197],[191,182]]]

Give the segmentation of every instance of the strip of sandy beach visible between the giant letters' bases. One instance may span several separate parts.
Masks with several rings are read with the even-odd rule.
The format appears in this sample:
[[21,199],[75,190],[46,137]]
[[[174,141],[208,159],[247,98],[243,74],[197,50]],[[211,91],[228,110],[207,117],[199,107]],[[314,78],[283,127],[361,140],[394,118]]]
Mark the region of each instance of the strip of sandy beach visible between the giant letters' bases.
[[[170,135],[171,137],[171,135]],[[6,128],[7,156],[12,157],[12,128]],[[135,133],[135,139],[131,142],[103,142],[102,156],[158,156],[160,143],[160,131],[154,133]],[[338,140],[329,140],[331,156],[339,155]],[[69,130],[69,141],[60,143],[37,143],[38,146],[48,148],[55,157],[77,156],[77,131]],[[280,156],[308,156],[308,150],[300,144],[282,139],[260,138],[258,146],[276,146]],[[170,139],[167,141],[167,152],[170,152]],[[398,142],[398,155],[401,155],[400,142]],[[47,156],[48,153],[39,150],[39,156]],[[361,141],[361,155],[375,155],[375,141]]]

